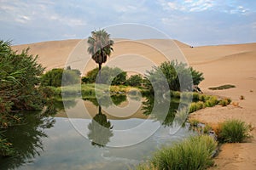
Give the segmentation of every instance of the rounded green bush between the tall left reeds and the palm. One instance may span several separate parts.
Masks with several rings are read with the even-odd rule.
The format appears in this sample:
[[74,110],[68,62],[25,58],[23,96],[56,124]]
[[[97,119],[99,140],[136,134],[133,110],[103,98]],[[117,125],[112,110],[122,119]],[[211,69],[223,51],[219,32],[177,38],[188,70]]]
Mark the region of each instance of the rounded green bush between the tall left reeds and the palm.
[[79,70],[64,70],[60,68],[47,71],[41,78],[43,86],[61,87],[79,82]]

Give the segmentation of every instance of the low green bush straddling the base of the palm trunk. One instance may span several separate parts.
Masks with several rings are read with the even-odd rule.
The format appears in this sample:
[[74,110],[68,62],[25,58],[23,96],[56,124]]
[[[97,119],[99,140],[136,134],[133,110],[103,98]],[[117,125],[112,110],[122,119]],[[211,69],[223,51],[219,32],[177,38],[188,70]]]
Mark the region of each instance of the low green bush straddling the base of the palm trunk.
[[[82,82],[84,83],[93,83],[96,82],[98,77],[99,70],[97,68],[88,71],[86,77],[82,77]],[[111,84],[111,85],[121,85],[126,82],[127,73],[122,71],[118,67],[102,67],[101,71],[101,83]]]

